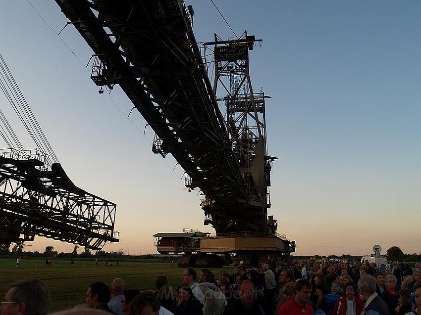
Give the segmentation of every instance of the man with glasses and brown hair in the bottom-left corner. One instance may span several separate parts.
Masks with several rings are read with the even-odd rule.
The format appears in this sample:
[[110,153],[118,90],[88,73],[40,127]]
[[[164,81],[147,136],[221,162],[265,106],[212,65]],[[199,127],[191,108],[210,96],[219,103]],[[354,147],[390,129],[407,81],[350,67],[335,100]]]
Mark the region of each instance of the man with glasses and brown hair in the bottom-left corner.
[[38,279],[14,282],[0,305],[1,315],[45,315],[50,304],[50,291]]

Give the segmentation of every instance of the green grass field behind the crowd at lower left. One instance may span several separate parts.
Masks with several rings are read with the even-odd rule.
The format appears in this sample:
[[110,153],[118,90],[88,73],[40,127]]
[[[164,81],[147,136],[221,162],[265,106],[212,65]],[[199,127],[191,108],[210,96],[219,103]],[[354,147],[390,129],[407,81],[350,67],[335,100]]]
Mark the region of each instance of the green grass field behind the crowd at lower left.
[[[98,266],[92,262],[53,260],[51,267],[44,266],[44,259],[22,259],[20,266],[15,268],[15,259],[0,260],[0,299],[6,294],[10,284],[17,280],[38,278],[50,288],[51,306],[49,312],[73,308],[85,304],[86,291],[95,281],[103,281],[110,285],[112,279],[120,277],[126,283],[127,289],[154,290],[158,275],[166,275],[169,284],[175,289],[181,284],[183,269],[177,267],[176,261],[162,260],[132,260],[120,262],[118,266]],[[221,269],[212,269],[215,276]],[[224,268],[232,273],[232,268]]]

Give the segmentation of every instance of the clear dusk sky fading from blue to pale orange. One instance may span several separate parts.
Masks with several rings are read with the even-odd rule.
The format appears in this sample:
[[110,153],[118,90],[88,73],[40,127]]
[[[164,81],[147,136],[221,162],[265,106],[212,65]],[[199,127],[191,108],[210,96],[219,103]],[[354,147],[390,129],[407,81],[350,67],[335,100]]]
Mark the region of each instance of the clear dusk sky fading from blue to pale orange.
[[[250,62],[254,90],[272,97],[268,153],[279,160],[269,215],[295,254],[369,254],[374,244],[421,253],[421,1],[214,2],[237,35],[263,39]],[[197,41],[234,36],[210,0],[185,3]],[[181,167],[152,153],[137,111],[127,118],[125,94],[98,93],[85,68],[93,52],[75,28],[60,34],[65,44],[56,35],[66,22],[53,0],[2,0],[0,53],[67,175],[117,204],[120,242],[104,250],[155,254],[157,232],[214,232]],[[0,105],[35,148],[3,94]]]

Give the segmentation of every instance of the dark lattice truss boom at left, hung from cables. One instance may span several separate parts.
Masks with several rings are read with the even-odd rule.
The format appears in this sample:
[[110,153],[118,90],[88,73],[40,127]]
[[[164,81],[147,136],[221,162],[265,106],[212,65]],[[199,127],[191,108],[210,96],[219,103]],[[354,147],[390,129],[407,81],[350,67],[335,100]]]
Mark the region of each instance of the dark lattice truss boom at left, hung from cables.
[[118,242],[116,204],[76,187],[60,164],[38,150],[0,151],[2,241],[35,235],[92,249]]

